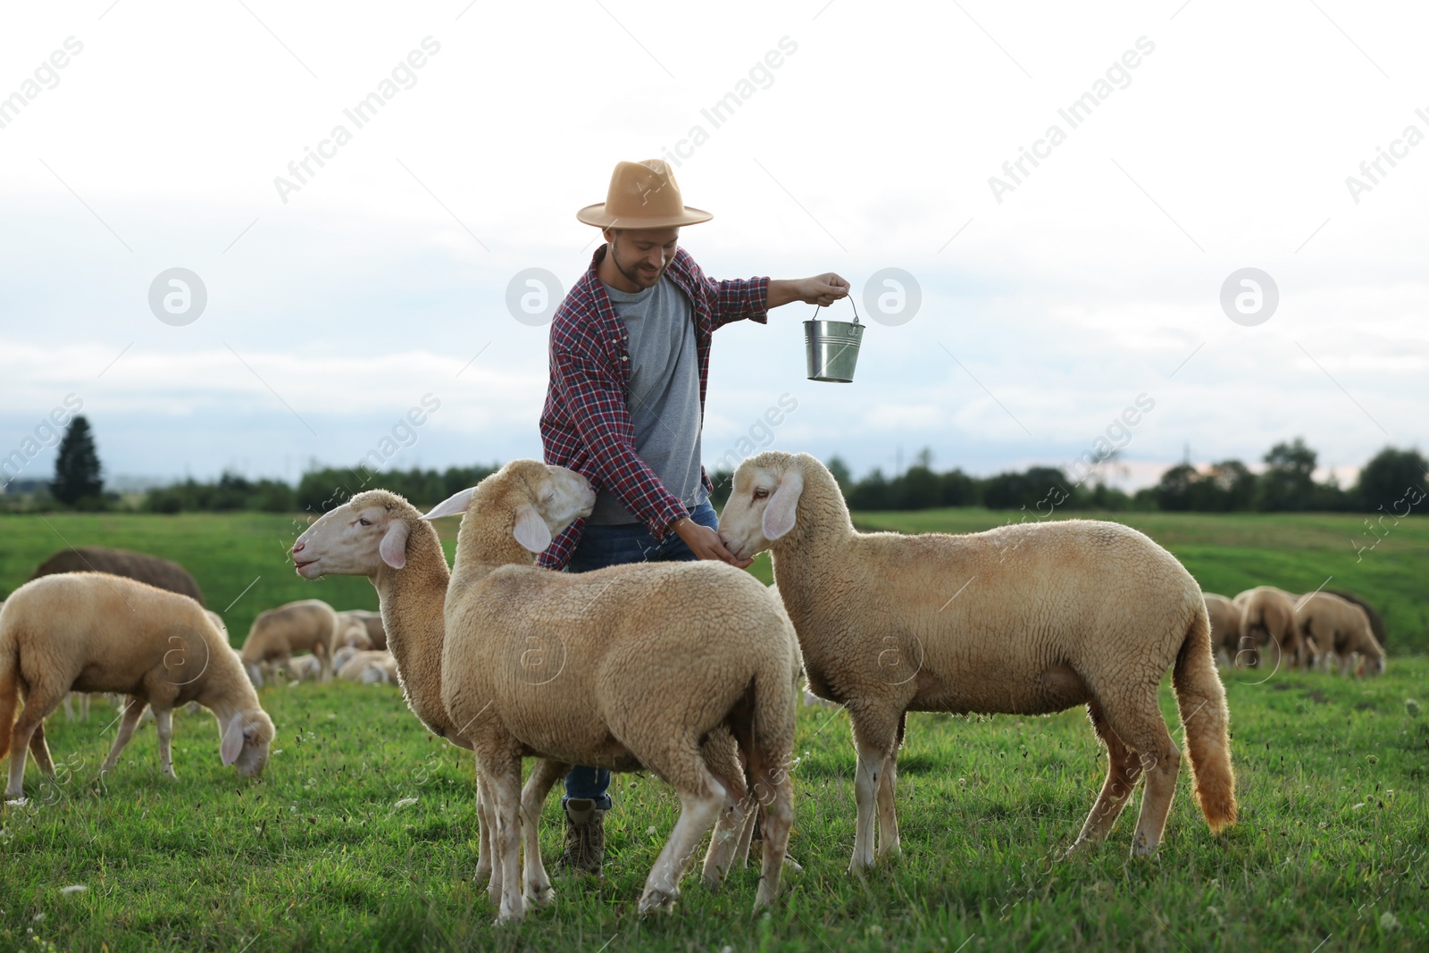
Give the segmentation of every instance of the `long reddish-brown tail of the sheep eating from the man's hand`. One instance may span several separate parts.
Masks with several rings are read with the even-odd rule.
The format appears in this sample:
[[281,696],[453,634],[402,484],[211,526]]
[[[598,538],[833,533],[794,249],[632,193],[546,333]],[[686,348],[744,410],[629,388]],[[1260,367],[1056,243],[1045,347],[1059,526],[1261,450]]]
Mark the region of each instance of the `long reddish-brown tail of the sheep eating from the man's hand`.
[[1176,706],[1186,730],[1186,754],[1196,803],[1212,833],[1236,823],[1236,776],[1230,769],[1230,710],[1210,646],[1210,619],[1203,600],[1172,670]]

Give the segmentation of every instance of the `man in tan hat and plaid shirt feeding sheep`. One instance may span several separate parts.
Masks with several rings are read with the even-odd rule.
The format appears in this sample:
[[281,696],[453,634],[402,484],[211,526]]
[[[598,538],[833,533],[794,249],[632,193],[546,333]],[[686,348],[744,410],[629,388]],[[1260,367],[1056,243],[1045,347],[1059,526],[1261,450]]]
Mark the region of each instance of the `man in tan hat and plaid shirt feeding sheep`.
[[[603,230],[590,269],[550,326],[550,386],[540,431],[546,463],[596,489],[592,514],[552,540],[540,564],[583,573],[620,563],[717,559],[740,569],[714,527],[700,466],[710,336],[767,310],[832,304],[849,293],[833,273],[714,281],[679,249],[680,227],[713,216],[689,209],[659,159],[622,161],[606,201],[576,219]],[[562,864],[600,873],[610,772],[566,777]]]

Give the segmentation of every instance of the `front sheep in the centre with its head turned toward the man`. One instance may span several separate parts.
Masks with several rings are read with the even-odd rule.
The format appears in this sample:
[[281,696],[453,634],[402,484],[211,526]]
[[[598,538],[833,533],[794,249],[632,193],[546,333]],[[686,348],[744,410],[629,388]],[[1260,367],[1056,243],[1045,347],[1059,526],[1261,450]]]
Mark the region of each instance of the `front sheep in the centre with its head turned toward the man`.
[[[519,792],[524,756],[562,769],[649,769],[679,792],[680,817],[646,880],[642,916],[672,909],[712,824],[704,882],[717,886],[753,822],[753,812],[743,814],[745,770],[710,750],[720,727],[739,739],[763,804],[757,910],[779,893],[793,822],[799,650],[789,616],[763,584],[725,563],[537,567],[536,554],[589,516],[594,499],[579,473],[514,460],[426,517],[462,513],[442,700],[473,740],[494,794],[487,820],[492,880],[502,879],[497,922],[523,919],[527,897],[553,899],[534,827],[559,773],[543,763]],[[523,834],[527,896],[519,889]]]

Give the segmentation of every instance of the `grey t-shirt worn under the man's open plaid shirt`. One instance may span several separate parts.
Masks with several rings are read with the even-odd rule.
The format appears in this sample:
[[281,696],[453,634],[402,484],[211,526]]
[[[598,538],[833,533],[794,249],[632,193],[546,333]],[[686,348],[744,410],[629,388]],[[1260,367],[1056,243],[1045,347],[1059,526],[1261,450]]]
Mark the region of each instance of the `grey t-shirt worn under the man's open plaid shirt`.
[[[700,367],[694,351],[694,306],[669,276],[629,293],[609,284],[610,306],[630,336],[630,390],[634,451],[686,507],[709,494],[700,482]],[[639,523],[609,490],[596,492],[587,523]]]

